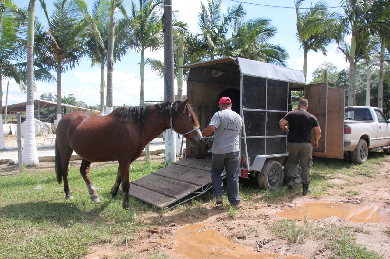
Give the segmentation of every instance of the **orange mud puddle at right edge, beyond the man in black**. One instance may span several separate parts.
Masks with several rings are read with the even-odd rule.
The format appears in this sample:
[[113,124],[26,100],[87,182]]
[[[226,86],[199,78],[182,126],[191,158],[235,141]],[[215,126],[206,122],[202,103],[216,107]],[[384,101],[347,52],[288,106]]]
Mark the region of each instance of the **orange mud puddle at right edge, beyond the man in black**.
[[390,222],[390,213],[383,206],[345,203],[305,203],[302,207],[287,208],[277,215],[303,221],[336,216],[353,222]]

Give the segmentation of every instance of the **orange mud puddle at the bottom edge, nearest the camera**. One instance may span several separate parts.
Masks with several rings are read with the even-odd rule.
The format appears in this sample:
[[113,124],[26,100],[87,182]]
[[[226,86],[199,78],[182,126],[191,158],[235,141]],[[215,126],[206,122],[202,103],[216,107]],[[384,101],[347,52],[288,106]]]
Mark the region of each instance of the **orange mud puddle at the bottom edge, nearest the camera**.
[[266,254],[256,252],[250,247],[244,247],[234,243],[214,229],[206,228],[203,225],[188,225],[177,229],[175,235],[161,242],[174,242],[176,248],[172,251],[177,256],[188,258],[287,258],[302,259],[302,256],[282,256],[273,253]]

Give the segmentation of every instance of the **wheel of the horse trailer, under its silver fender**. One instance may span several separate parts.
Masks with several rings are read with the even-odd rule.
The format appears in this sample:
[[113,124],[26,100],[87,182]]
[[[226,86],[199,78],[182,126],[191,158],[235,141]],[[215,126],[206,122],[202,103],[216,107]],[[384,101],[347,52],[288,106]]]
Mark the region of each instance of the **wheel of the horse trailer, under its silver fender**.
[[282,185],[283,168],[277,161],[267,161],[257,175],[257,183],[262,189],[275,190]]

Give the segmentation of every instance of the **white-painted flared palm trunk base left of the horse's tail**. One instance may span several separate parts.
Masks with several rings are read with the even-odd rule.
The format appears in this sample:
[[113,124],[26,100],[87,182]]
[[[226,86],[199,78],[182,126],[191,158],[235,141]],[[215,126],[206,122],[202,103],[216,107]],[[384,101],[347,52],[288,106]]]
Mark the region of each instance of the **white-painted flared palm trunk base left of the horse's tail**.
[[37,144],[35,142],[34,105],[26,106],[26,133],[22,160],[23,164],[27,165],[36,165],[39,163]]

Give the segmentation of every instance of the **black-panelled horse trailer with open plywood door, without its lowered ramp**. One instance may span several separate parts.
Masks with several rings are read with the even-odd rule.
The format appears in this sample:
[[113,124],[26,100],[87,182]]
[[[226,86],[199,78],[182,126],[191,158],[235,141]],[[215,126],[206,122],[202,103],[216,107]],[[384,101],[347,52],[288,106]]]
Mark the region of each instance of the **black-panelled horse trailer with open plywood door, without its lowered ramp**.
[[[343,87],[328,89],[327,83],[306,84],[302,71],[245,58],[225,57],[183,67],[190,68],[187,96],[202,130],[218,111],[218,101],[223,96],[231,98],[232,110],[241,115],[240,177],[255,178],[264,189],[276,189],[287,179],[283,169],[287,168],[287,133],[278,122],[292,110],[293,91],[304,91],[308,112],[317,117],[322,130],[313,156],[342,157],[342,147],[333,144],[343,143],[344,126],[339,123],[344,116]],[[328,129],[332,134],[329,140]],[[188,146],[186,157],[211,156],[209,149],[205,141],[198,147]],[[300,182],[299,172],[296,182]]]

